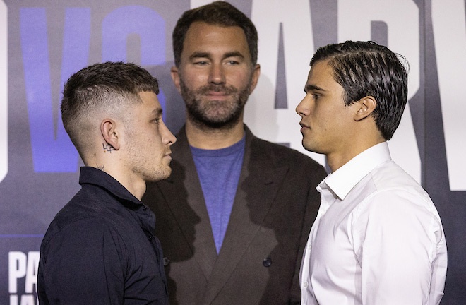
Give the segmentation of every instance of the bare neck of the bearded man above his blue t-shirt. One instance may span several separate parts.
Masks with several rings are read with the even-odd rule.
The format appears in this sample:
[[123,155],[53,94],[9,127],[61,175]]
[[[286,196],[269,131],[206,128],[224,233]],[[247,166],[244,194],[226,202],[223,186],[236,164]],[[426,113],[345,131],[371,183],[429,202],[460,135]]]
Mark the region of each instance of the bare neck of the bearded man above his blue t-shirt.
[[243,121],[227,129],[219,128],[199,128],[191,121],[186,121],[186,137],[189,145],[201,149],[221,149],[227,148],[234,143],[238,143],[244,136]]

